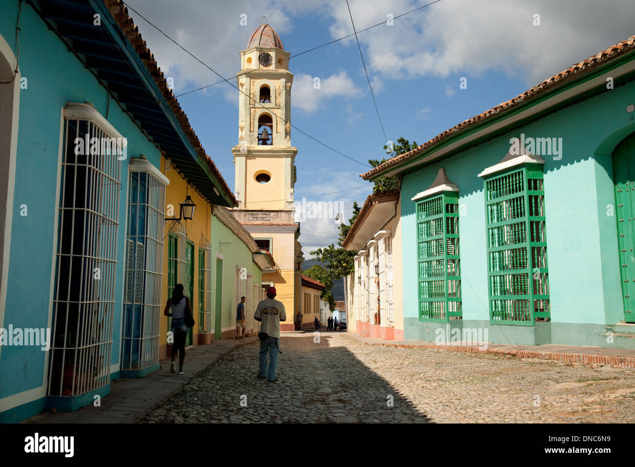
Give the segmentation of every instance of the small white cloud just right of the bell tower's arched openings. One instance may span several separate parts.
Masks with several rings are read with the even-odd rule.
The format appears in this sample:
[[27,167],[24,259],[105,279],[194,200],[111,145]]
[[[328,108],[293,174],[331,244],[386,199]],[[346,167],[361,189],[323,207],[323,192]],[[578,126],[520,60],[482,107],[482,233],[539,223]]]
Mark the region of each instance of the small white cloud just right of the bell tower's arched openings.
[[[316,78],[319,81],[316,81]],[[293,108],[307,113],[315,112],[326,100],[334,97],[359,97],[361,91],[345,71],[328,78],[298,74],[293,78],[291,88]]]

